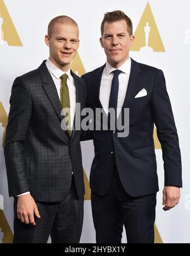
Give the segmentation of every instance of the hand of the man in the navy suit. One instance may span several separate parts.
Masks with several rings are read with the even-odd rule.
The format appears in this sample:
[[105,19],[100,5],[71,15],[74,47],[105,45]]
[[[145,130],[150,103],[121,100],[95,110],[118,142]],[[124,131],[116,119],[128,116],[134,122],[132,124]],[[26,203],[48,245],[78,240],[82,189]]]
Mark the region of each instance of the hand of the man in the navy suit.
[[165,186],[163,189],[163,210],[168,211],[179,203],[180,188]]

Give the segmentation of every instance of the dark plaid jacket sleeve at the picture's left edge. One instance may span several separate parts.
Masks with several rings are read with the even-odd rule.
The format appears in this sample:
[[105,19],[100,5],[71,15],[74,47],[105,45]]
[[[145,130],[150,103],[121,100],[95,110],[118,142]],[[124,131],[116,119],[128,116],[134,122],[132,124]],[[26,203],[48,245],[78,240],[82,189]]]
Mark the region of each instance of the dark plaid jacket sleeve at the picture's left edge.
[[21,77],[17,77],[13,83],[10,105],[4,156],[9,196],[16,196],[30,191],[23,150],[32,113],[32,97],[27,84],[23,83]]

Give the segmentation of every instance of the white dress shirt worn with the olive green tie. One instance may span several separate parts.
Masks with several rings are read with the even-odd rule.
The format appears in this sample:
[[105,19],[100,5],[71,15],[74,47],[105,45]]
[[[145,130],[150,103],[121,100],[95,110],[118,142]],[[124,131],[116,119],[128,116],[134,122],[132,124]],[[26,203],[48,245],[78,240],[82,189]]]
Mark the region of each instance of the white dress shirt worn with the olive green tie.
[[[70,69],[67,72],[61,71],[61,69],[58,69],[49,58],[46,60],[46,66],[51,74],[51,77],[53,78],[54,84],[56,86],[56,90],[58,91],[58,96],[60,97],[60,88],[61,88],[61,76],[63,74],[67,74],[68,78],[66,80],[66,84],[68,86],[68,92],[69,92],[69,98],[70,98],[70,125],[71,130],[73,128],[74,118],[75,118],[75,109],[76,109],[76,88],[75,88],[75,82],[70,74]],[[60,113],[61,114],[61,113]],[[72,132],[72,131],[71,131]],[[19,194],[18,196],[24,196],[25,194],[30,194],[30,192],[25,192],[23,194]]]

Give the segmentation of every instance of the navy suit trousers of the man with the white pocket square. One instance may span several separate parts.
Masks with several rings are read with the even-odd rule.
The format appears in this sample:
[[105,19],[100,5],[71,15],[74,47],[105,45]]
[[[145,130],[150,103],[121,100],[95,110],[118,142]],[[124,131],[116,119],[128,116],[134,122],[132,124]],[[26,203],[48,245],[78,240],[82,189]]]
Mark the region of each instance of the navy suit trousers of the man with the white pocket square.
[[117,166],[105,196],[91,192],[96,243],[121,243],[123,227],[127,243],[154,243],[156,193],[132,197],[125,191]]

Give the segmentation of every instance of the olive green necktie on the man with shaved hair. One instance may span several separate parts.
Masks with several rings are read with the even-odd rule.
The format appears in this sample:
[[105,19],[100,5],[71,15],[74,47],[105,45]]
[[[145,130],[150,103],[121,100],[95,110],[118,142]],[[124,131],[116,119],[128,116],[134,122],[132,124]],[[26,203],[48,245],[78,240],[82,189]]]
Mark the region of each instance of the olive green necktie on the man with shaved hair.
[[[61,89],[60,89],[60,98],[61,98],[61,106],[63,109],[64,116],[68,119],[66,122],[66,127],[68,128],[68,135],[71,135],[71,125],[70,125],[70,98],[69,98],[69,91],[68,85],[66,84],[67,74],[63,74],[61,76]],[[67,109],[68,111],[64,111]]]

